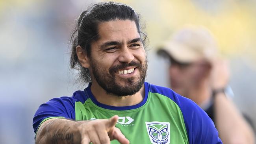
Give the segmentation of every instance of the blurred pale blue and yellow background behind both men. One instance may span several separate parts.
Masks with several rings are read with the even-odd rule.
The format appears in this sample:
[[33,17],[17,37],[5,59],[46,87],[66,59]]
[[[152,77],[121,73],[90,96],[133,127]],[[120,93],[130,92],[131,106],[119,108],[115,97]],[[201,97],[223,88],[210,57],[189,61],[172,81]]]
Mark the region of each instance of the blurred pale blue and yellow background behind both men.
[[[33,144],[41,103],[84,89],[69,68],[75,19],[95,0],[0,0],[0,144]],[[256,0],[120,0],[142,15],[147,81],[168,87],[156,48],[186,25],[208,28],[230,60],[234,102],[256,125]]]

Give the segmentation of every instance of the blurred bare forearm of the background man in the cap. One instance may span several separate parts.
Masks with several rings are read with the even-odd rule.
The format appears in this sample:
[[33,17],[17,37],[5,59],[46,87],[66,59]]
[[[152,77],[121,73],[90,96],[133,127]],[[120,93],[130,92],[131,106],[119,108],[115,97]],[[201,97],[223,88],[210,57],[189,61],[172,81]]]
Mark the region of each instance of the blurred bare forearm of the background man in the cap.
[[223,93],[215,97],[215,122],[224,144],[254,144],[252,129]]

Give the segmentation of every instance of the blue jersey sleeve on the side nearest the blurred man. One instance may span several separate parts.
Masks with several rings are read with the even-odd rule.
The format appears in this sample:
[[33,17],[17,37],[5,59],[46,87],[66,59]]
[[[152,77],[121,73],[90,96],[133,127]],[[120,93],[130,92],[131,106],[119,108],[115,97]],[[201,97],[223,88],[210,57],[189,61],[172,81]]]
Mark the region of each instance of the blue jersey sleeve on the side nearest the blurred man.
[[174,93],[187,129],[189,144],[222,144],[211,118],[192,100]]

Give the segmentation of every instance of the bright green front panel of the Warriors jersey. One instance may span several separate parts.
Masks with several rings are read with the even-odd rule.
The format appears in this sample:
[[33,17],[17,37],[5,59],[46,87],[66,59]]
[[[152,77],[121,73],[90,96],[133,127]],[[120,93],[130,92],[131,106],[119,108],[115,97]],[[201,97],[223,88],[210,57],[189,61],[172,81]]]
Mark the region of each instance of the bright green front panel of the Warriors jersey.
[[[130,140],[131,144],[150,144],[150,139],[153,141],[164,139],[159,135],[160,126],[167,124],[166,140],[162,144],[188,144],[186,127],[184,124],[182,112],[178,105],[170,98],[158,93],[148,93],[147,102],[137,109],[131,110],[109,110],[99,107],[89,98],[84,103],[76,102],[75,104],[76,120],[94,120],[108,119],[113,115],[119,116],[118,127],[122,133]],[[147,125],[147,123],[148,125]],[[154,122],[154,124],[149,124]],[[158,124],[159,122],[159,124]],[[163,124],[161,124],[163,123]],[[157,127],[154,129],[154,127]],[[148,133],[148,129],[156,130],[152,137]],[[119,144],[119,142],[111,141],[111,144]]]

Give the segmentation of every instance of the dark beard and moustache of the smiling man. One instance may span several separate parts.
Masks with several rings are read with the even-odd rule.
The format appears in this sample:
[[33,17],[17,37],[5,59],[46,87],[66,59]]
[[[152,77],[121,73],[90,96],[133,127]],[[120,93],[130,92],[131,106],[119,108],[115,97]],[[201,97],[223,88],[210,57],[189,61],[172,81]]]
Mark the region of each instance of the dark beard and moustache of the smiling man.
[[[128,66],[136,66],[139,70],[140,75],[137,78],[128,78],[125,79],[126,86],[122,87],[119,83],[116,82],[115,73],[118,70],[126,68]],[[130,63],[122,63],[121,65],[112,66],[109,68],[109,73],[103,72],[96,63],[92,63],[92,70],[94,77],[100,87],[106,90],[107,94],[114,94],[115,96],[131,96],[137,93],[144,84],[146,75],[147,75],[148,60],[146,57],[145,65],[136,61],[131,61]],[[136,81],[137,80],[137,81]]]

